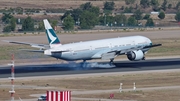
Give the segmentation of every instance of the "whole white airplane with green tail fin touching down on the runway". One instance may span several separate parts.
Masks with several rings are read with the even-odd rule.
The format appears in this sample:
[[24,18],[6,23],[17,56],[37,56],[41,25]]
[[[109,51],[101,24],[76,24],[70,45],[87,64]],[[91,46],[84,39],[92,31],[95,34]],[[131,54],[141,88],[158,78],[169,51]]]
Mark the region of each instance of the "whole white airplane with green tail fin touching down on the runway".
[[7,40],[6,42],[30,45],[39,48],[39,50],[24,50],[41,52],[44,55],[66,61],[83,60],[83,62],[86,62],[86,60],[103,59],[110,60],[111,64],[113,64],[114,58],[119,55],[127,55],[130,61],[145,60],[145,54],[150,48],[162,45],[152,44],[151,40],[144,36],[127,36],[61,44],[48,20],[44,19],[43,22],[49,45]]

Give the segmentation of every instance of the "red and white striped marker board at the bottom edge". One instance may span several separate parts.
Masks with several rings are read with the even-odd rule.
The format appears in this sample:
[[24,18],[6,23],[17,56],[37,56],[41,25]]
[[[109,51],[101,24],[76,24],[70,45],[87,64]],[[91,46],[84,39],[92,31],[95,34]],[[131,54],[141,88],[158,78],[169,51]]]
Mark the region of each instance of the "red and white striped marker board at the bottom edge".
[[47,101],[71,101],[71,91],[47,91]]

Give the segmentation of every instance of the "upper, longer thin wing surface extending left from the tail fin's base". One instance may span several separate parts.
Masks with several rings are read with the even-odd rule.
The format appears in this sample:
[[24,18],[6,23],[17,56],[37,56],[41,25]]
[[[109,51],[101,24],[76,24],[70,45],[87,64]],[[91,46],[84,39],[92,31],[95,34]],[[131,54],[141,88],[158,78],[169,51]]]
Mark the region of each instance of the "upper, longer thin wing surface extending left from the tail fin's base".
[[13,44],[29,45],[31,47],[39,48],[39,49],[49,49],[50,48],[49,45],[45,45],[45,44],[35,44],[35,43],[20,42],[20,41],[8,41],[8,40],[3,40],[3,41],[8,42],[8,43],[13,43]]

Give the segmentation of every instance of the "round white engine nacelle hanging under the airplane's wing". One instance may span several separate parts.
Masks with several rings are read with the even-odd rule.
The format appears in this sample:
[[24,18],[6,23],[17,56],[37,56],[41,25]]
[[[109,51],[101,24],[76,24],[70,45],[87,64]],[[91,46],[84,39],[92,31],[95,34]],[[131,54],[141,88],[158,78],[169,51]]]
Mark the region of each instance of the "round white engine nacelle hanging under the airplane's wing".
[[144,53],[142,50],[135,50],[127,53],[127,58],[130,61],[139,61],[144,58]]

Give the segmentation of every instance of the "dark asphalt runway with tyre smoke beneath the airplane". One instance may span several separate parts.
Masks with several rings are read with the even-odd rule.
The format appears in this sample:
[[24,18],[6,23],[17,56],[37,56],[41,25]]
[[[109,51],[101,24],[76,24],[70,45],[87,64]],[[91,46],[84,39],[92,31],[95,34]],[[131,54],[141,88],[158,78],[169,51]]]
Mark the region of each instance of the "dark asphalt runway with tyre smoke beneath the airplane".
[[[85,67],[81,65],[82,63],[15,66],[15,77],[180,69],[180,58],[115,61],[115,67],[110,67],[106,62],[88,62]],[[11,67],[0,67],[0,78],[8,78],[10,73]]]

